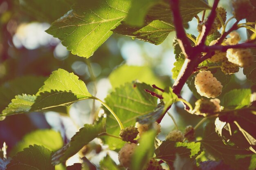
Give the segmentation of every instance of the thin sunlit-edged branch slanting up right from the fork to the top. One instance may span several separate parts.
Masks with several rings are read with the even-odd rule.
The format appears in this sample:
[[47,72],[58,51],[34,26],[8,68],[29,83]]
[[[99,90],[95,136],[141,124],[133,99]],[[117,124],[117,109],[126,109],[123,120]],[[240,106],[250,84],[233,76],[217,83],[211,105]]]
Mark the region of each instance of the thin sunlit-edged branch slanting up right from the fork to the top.
[[211,9],[211,13],[205,23],[205,26],[203,26],[202,28],[202,33],[201,33],[201,36],[199,38],[199,46],[202,46],[204,45],[205,43],[205,40],[207,38],[207,35],[209,34],[209,32],[211,31],[211,26],[216,18],[216,8],[218,7],[218,3],[219,3],[220,0],[214,0],[213,2],[213,7]]

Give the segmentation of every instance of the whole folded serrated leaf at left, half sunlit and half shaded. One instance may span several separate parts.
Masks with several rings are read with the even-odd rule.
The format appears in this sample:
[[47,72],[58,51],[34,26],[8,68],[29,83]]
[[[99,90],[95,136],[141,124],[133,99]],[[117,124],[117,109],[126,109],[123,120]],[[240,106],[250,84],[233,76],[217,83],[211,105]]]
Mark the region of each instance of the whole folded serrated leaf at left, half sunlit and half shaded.
[[52,72],[36,96],[26,94],[15,96],[12,103],[2,111],[2,116],[66,106],[90,97],[92,95],[88,92],[84,82],[79,80],[74,73],[58,69]]

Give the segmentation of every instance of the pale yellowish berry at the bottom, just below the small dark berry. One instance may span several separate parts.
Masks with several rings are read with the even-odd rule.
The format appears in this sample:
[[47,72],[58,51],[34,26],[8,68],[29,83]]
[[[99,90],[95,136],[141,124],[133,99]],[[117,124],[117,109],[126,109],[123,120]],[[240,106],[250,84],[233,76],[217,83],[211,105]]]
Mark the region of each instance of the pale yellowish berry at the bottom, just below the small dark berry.
[[123,148],[118,152],[118,160],[120,165],[128,168],[131,164],[132,154],[137,147],[134,143],[126,143],[124,144]]

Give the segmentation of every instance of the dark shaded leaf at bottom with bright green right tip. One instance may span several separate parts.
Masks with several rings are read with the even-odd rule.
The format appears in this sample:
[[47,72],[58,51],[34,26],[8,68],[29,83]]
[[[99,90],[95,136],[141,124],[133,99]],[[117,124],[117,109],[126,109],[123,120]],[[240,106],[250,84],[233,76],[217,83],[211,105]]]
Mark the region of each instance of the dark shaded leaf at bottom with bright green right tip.
[[[195,149],[193,153],[191,149]],[[164,160],[168,164],[170,170],[173,170],[173,162],[175,161],[177,155],[179,155],[179,157],[189,159],[191,155],[198,155],[196,150],[199,154],[200,143],[191,143],[186,146],[180,142],[167,140],[163,141],[163,143],[155,150],[155,158]]]

